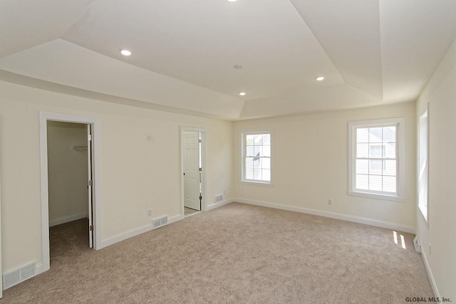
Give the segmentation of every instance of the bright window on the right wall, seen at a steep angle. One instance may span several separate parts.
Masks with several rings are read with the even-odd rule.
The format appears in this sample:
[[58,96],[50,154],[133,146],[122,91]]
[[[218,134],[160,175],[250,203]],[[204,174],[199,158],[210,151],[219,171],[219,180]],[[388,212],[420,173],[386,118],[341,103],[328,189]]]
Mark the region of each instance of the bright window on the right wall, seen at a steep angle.
[[427,105],[421,112],[418,122],[418,207],[427,221],[427,174],[428,174],[428,139],[429,139],[429,112]]

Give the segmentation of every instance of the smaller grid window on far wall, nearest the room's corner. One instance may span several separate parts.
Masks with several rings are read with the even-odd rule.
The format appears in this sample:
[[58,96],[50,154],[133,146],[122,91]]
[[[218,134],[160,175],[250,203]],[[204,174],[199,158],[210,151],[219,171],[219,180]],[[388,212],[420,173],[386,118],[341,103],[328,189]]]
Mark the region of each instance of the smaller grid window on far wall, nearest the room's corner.
[[242,132],[242,182],[271,184],[271,132]]

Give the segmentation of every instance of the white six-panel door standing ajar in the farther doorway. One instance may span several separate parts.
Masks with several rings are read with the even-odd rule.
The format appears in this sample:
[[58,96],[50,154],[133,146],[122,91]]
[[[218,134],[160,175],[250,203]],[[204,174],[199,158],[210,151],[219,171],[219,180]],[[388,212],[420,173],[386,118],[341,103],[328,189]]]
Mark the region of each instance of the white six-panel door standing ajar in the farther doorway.
[[201,210],[199,191],[199,132],[184,132],[184,206]]

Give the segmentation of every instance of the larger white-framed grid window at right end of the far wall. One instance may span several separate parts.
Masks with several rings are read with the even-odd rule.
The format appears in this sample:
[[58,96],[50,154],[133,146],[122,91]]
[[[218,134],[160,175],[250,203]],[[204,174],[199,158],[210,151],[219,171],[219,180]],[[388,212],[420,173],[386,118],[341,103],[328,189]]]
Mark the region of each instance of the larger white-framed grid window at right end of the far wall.
[[404,119],[348,122],[348,194],[404,201]]

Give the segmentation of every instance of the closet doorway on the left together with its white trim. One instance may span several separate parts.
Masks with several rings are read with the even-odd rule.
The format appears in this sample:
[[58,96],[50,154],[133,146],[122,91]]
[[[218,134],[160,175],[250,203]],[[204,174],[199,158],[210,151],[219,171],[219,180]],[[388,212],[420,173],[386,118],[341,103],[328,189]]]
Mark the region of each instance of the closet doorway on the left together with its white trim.
[[78,222],[76,226],[86,230],[86,248],[98,247],[99,129],[95,117],[40,112],[43,263],[37,266],[38,273],[50,268],[51,226]]

